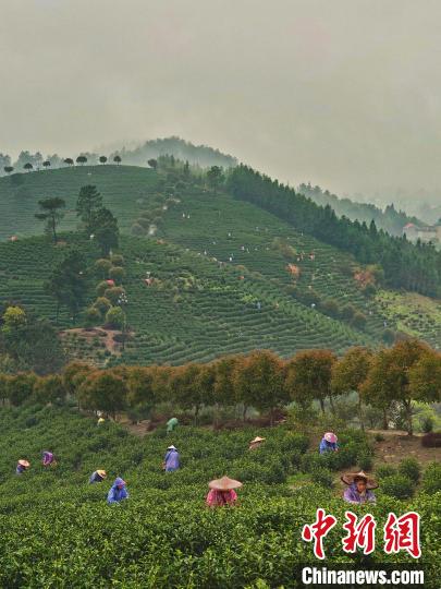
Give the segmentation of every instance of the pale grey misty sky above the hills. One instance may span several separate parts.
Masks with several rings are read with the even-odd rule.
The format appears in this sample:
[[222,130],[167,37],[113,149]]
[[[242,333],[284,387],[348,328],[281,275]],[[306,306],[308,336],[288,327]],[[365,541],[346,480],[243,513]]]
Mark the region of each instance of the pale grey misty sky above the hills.
[[338,193],[441,187],[439,0],[0,8],[0,152],[173,134]]

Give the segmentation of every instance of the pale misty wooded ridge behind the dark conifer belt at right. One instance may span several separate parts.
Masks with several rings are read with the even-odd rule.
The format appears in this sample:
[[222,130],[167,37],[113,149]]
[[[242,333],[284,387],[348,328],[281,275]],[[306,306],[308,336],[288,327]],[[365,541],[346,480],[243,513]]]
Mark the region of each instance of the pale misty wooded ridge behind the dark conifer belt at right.
[[404,211],[396,211],[393,203],[388,205],[384,211],[370,203],[357,203],[351,199],[341,199],[332,194],[329,190],[322,190],[320,187],[299,184],[297,191],[308,196],[318,205],[330,205],[339,217],[347,217],[351,220],[365,221],[367,225],[375,221],[378,229],[383,229],[391,236],[402,236],[403,227],[408,223],[415,225],[425,225],[417,217],[408,216]]

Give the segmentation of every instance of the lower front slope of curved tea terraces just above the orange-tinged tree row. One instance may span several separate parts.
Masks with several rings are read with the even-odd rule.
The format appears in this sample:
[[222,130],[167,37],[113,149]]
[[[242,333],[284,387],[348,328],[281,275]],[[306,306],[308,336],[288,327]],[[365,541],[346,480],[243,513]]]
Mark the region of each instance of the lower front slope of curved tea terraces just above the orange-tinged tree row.
[[[62,239],[63,244],[57,247],[45,237],[0,244],[2,301],[23,304],[54,321],[56,302],[44,288],[51,266],[69,245],[81,248],[90,261],[98,255],[95,245],[79,233],[65,233]],[[343,351],[354,344],[376,344],[368,333],[296,301],[283,280],[269,280],[233,264],[219,265],[208,256],[145,238],[123,237],[121,251],[133,339],[122,356],[111,356],[99,341],[86,347],[79,338],[68,336],[65,341],[74,356],[91,356],[99,364],[179,364],[255,348],[290,356],[313,347]],[[146,276],[154,278],[151,286],[146,285]],[[88,278],[85,306],[96,297],[96,281]],[[72,325],[65,311],[60,314],[60,327],[79,326],[82,321],[79,316]]]

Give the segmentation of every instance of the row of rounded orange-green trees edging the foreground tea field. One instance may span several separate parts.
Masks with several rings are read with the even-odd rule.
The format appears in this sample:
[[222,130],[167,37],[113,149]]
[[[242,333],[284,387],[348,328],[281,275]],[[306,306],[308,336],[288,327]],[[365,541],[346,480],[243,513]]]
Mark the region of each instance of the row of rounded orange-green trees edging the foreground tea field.
[[[362,423],[364,405],[381,409],[387,426],[388,411],[393,404],[400,404],[412,434],[413,401],[441,400],[441,354],[416,340],[405,340],[377,353],[353,348],[341,359],[329,350],[308,350],[282,360],[260,350],[221,358],[210,364],[176,368],[121,365],[95,370],[72,363],[60,375],[42,380],[29,374],[3,375],[0,383],[0,395],[13,405],[33,400],[37,386],[39,400],[71,395],[83,409],[101,410],[113,417],[127,409],[142,409],[148,414],[157,405],[171,401],[183,410],[193,410],[196,420],[207,406],[241,405],[245,419],[250,407],[272,416],[275,408],[291,401],[307,411],[317,400],[324,412],[327,401],[332,408],[339,396],[355,392]],[[41,396],[45,389],[46,399]]]

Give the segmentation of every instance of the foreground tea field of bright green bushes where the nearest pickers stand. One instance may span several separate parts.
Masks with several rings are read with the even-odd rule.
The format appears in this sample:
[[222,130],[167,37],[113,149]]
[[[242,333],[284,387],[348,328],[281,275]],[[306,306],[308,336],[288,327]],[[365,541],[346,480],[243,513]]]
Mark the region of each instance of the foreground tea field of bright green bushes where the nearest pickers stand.
[[[260,430],[182,426],[172,436],[159,430],[137,438],[118,424],[97,428],[75,408],[2,408],[0,426],[2,587],[297,587],[296,567],[315,562],[301,532],[318,506],[340,522],[326,538],[327,563],[360,565],[360,556],[342,552],[341,498],[310,483],[290,488],[287,477],[309,450],[307,437],[287,428],[266,430],[266,446],[249,453],[248,442]],[[359,432],[342,432],[341,441],[355,456],[366,448]],[[171,443],[182,468],[166,474],[160,465]],[[56,454],[57,467],[44,470],[42,449]],[[32,466],[17,477],[20,457]],[[89,485],[96,469],[106,469],[108,479]],[[224,473],[244,483],[241,504],[207,509],[207,483]],[[130,498],[109,506],[106,495],[117,476],[127,482]],[[378,505],[369,506],[379,529],[389,512],[420,514],[419,564],[428,588],[437,587],[440,506],[439,494],[397,501],[381,493]],[[413,561],[405,553],[387,556],[381,542],[378,533],[373,562]]]

